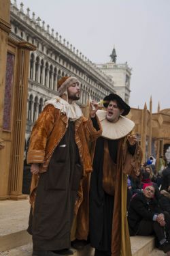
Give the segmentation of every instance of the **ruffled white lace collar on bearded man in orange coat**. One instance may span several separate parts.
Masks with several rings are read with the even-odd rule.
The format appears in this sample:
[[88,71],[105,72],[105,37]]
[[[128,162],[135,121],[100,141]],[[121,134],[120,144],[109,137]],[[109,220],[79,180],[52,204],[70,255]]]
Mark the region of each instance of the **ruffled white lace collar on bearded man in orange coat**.
[[69,104],[66,100],[63,100],[63,98],[56,96],[55,98],[46,101],[45,105],[52,104],[56,109],[60,109],[61,113],[64,113],[67,115],[68,119],[71,119],[71,121],[75,121],[82,117],[83,113],[80,109],[80,106],[76,104],[75,102]]

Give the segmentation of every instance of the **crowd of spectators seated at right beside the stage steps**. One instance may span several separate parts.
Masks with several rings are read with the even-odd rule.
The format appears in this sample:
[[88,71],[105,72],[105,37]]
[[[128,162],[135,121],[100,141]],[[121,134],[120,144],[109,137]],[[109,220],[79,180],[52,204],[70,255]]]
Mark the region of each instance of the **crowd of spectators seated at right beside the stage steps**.
[[130,236],[154,235],[170,256],[170,162],[160,157],[156,165],[150,156],[136,177],[128,176],[127,214]]

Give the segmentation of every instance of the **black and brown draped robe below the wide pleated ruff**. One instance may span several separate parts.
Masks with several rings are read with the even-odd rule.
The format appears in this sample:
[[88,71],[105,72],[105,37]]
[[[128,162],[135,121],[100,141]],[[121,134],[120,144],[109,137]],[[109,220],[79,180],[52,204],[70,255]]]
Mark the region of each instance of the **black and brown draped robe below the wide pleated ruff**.
[[[104,150],[105,141],[107,141],[108,151]],[[104,156],[105,152],[109,152],[107,158]],[[107,163],[103,162],[104,160],[107,160]],[[90,180],[90,242],[92,247],[108,254],[110,252],[112,256],[131,256],[129,227],[126,219],[126,174],[135,175],[140,162],[139,145],[132,148],[126,141],[126,137],[119,140],[103,137],[97,139]],[[109,166],[114,167],[112,171],[115,172],[114,195],[108,195],[108,191],[106,193],[103,188],[103,177],[106,176],[104,168]]]

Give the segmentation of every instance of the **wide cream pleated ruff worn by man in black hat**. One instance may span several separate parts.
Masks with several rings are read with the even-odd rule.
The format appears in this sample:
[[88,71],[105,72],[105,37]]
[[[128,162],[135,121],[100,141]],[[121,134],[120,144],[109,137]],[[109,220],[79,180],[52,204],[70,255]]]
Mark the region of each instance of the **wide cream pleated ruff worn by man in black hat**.
[[135,124],[130,119],[123,117],[120,115],[118,122],[112,123],[107,121],[106,111],[98,110],[97,116],[99,117],[99,121],[101,122],[101,127],[103,129],[102,137],[107,139],[120,139],[129,134]]

